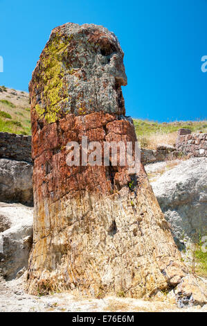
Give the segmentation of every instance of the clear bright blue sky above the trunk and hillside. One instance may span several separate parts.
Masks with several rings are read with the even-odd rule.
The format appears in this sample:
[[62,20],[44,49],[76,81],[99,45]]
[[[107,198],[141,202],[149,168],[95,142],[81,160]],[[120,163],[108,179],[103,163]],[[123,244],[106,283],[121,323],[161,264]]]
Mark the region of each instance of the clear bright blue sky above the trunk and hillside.
[[0,0],[0,85],[28,91],[51,29],[103,25],[125,52],[127,115],[156,121],[206,118],[207,0]]

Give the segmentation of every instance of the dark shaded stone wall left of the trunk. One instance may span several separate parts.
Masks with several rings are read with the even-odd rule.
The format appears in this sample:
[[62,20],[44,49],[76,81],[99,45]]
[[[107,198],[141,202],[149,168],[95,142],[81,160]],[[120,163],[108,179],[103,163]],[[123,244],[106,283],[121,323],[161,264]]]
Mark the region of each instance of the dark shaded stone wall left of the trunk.
[[0,158],[32,162],[31,136],[0,132]]

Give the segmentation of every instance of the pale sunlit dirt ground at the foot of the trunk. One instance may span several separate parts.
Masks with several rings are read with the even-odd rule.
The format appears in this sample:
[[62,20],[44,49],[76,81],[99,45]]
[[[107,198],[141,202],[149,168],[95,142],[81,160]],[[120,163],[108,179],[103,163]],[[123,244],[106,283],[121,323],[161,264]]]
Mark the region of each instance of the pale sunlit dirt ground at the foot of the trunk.
[[71,295],[71,293],[55,293],[54,295],[34,296],[24,292],[26,273],[17,280],[6,282],[0,280],[0,312],[99,312],[99,311],[132,311],[132,312],[204,312],[204,307],[188,307],[179,309],[177,304],[165,298],[156,301],[145,301],[131,298],[106,297],[94,299]]

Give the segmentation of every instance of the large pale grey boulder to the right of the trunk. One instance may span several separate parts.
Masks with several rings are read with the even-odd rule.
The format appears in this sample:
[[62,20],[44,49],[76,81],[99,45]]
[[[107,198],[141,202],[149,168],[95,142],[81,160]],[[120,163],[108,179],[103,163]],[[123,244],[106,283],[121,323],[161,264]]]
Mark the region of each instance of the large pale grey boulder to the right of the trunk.
[[207,158],[191,158],[152,182],[172,234],[198,243],[207,232]]

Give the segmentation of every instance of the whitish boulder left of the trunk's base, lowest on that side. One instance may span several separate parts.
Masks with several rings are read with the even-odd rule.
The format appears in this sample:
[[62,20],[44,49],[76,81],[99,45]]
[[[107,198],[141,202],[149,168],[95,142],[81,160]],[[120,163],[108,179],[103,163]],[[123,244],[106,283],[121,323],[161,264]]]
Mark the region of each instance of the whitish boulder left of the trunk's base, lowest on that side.
[[0,203],[0,271],[6,280],[28,268],[33,243],[33,208]]

